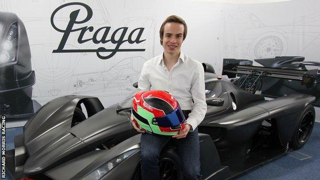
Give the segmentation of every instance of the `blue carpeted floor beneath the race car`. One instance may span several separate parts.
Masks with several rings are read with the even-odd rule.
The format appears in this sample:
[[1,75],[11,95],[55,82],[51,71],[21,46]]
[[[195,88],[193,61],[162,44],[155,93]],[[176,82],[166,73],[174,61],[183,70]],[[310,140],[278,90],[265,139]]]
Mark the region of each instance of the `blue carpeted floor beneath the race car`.
[[[9,128],[6,130],[6,148],[14,148],[13,138],[21,134],[22,128]],[[320,123],[315,123],[308,143],[298,151],[292,151],[275,159],[265,166],[251,170],[238,176],[236,180],[251,179],[320,179]],[[7,175],[6,179],[12,179]]]

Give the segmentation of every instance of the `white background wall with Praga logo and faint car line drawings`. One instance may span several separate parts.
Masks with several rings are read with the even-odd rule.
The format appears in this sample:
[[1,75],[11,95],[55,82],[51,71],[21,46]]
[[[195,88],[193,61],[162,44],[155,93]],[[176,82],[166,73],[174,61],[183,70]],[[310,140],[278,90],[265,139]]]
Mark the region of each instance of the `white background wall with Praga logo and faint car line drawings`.
[[[140,39],[145,41],[125,42],[119,49],[145,51],[116,52],[108,59],[99,58],[96,52],[89,50],[115,49],[116,43],[87,41],[80,44],[77,39],[81,31],[70,33],[64,49],[86,52],[52,52],[58,48],[64,33],[52,27],[50,17],[56,8],[71,2],[75,1],[0,1],[0,11],[16,13],[26,26],[36,75],[32,98],[41,105],[67,94],[97,96],[105,107],[126,97],[134,90],[132,84],[137,82],[143,63],[162,53],[158,30],[171,14],[187,22],[185,54],[212,64],[217,74],[222,72],[223,58],[298,55],[305,56],[307,61],[320,62],[320,2],[317,0],[263,4],[185,0],[76,1],[88,5],[93,13],[88,22],[73,27],[93,27],[92,32],[86,31],[83,39],[92,38],[102,27],[111,27],[106,40],[112,39],[116,29],[128,27],[126,40],[134,29],[144,28]],[[82,21],[87,10],[74,5],[59,10],[53,18],[54,24],[66,29],[70,13],[78,9],[76,20]],[[137,32],[132,37],[137,37]],[[121,34],[121,31],[114,33],[114,39]],[[97,39],[102,36],[103,31],[97,34]],[[270,47],[261,44],[272,44],[273,49],[270,51]],[[108,56],[110,53],[100,54]],[[319,110],[316,119],[320,119]]]

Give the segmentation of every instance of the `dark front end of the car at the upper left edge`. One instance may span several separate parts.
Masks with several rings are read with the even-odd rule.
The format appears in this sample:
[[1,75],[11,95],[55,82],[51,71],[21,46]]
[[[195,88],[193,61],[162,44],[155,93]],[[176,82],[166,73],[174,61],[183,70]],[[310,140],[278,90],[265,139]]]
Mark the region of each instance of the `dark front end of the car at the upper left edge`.
[[29,119],[41,105],[31,99],[35,73],[31,69],[28,35],[23,22],[14,13],[0,12],[0,48],[11,26],[17,29],[16,47],[13,47],[15,59],[0,64],[0,114],[7,115],[8,121],[18,121]]

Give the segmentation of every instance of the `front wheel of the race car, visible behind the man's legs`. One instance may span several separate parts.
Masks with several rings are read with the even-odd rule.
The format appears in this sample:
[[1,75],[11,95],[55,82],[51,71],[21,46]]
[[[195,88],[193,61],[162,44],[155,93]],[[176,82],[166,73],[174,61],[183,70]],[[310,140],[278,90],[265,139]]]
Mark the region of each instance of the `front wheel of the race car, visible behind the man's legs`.
[[[179,156],[173,150],[165,150],[159,156],[159,175],[161,180],[182,180]],[[137,167],[133,180],[141,179],[141,166]]]

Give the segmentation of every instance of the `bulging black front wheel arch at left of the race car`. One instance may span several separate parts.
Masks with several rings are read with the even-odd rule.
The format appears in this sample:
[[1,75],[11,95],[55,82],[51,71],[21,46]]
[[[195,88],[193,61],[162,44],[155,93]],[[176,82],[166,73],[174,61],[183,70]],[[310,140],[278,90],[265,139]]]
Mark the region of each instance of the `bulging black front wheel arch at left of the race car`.
[[23,128],[29,155],[71,128],[73,113],[79,102],[88,107],[88,115],[104,109],[99,99],[92,96],[68,95],[53,99],[39,109]]

